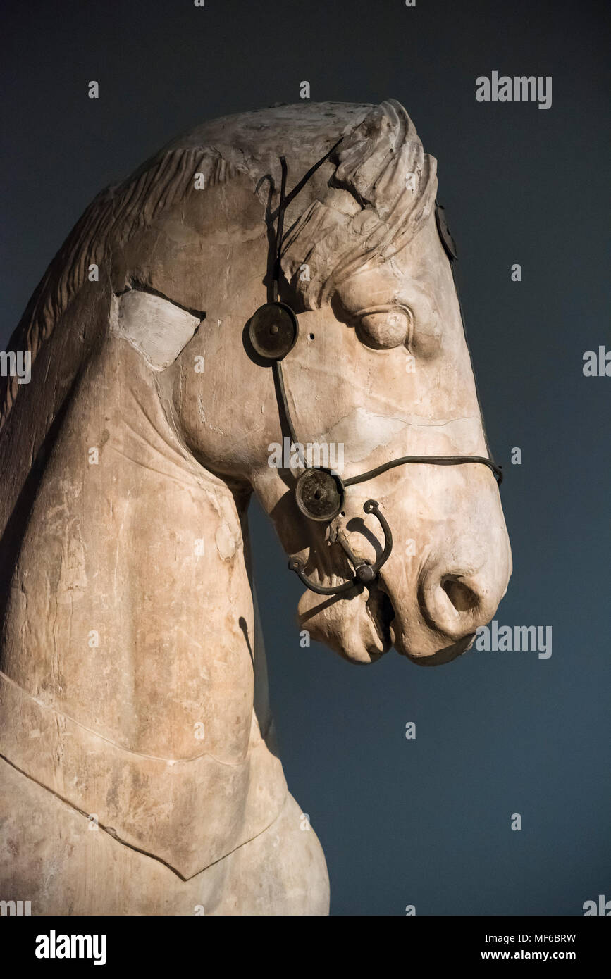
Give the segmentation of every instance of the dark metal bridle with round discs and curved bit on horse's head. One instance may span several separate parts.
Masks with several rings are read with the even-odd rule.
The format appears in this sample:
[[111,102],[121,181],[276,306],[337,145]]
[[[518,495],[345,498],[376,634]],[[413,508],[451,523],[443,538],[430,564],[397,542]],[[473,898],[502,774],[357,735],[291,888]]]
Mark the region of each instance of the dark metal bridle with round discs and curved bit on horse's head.
[[[264,303],[263,305],[259,306],[249,321],[249,337],[253,349],[263,360],[271,362],[278,400],[282,405],[284,418],[289,429],[291,442],[293,443],[294,447],[296,447],[299,442],[295,433],[295,428],[293,427],[291,412],[289,411],[286,391],[284,388],[282,366],[280,364],[280,361],[287,355],[287,353],[289,353],[290,350],[293,350],[293,347],[297,342],[299,332],[298,319],[294,310],[287,303],[278,302],[278,282],[280,278],[280,256],[284,212],[289,203],[297,196],[302,187],[304,187],[312,173],[314,173],[314,171],[331,156],[341,142],[342,140],[339,140],[335,146],[333,146],[329,152],[322,157],[321,160],[314,163],[314,165],[310,167],[307,173],[305,173],[305,176],[291,191],[288,197],[286,196],[287,164],[285,158],[280,157],[282,182],[280,187],[280,204],[278,206],[278,224],[275,240],[272,302]],[[454,287],[456,288],[453,268],[453,262],[456,259],[456,246],[447,228],[443,210],[444,209],[441,206],[438,206],[436,203],[435,217],[437,221],[437,228],[440,239],[449,258],[452,278],[454,278]],[[458,297],[457,288],[456,296]],[[460,306],[459,299],[458,305],[460,307],[460,316],[464,329],[464,317],[462,315],[462,307]],[[466,330],[464,332],[466,341]],[[483,424],[484,423],[482,421],[482,425]],[[488,466],[488,468],[492,470],[494,473],[494,478],[498,486],[500,486],[502,482],[502,470],[500,466],[496,465],[491,457],[488,439],[486,438],[486,430],[484,430],[484,438],[486,447],[489,451],[488,456],[402,455],[399,459],[391,459],[389,462],[385,462],[381,466],[376,466],[375,469],[369,469],[366,473],[361,473],[359,476],[351,476],[350,479],[347,480],[342,480],[339,474],[333,472],[332,470],[324,469],[320,466],[308,466],[305,463],[305,459],[300,458],[305,471],[299,477],[295,485],[295,500],[299,509],[308,520],[313,520],[317,523],[329,524],[344,510],[346,487],[354,486],[357,483],[366,483],[369,480],[375,479],[376,476],[380,476],[382,473],[388,472],[389,469],[394,469],[397,466],[403,466],[406,464],[460,466],[472,462],[480,463],[481,465]],[[384,564],[386,564],[391,555],[391,550],[393,549],[393,535],[386,518],[380,510],[380,504],[377,500],[366,500],[366,502],[363,504],[363,510],[365,514],[373,513],[378,518],[380,526],[384,532],[384,547],[382,548],[380,556],[376,558],[373,564],[369,564],[367,561],[359,560],[352,553],[346,536],[341,530],[339,530],[337,533],[337,539],[346,552],[354,569],[352,579],[343,584],[337,584],[335,586],[331,585],[329,587],[316,584],[305,575],[305,563],[299,558],[290,558],[289,570],[294,571],[300,581],[303,582],[305,587],[309,588],[310,591],[315,591],[316,594],[319,595],[339,595],[342,594],[342,592],[350,591],[353,588],[362,588],[365,585],[370,585],[377,579],[380,569]]]

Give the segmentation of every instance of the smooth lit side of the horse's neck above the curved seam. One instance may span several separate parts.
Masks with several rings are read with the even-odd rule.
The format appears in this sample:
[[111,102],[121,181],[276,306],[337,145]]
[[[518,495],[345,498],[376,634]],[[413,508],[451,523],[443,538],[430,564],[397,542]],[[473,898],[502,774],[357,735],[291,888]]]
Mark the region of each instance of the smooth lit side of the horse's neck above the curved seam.
[[238,764],[269,724],[245,530],[245,504],[180,443],[154,373],[110,339],[31,508],[4,672],[129,751]]

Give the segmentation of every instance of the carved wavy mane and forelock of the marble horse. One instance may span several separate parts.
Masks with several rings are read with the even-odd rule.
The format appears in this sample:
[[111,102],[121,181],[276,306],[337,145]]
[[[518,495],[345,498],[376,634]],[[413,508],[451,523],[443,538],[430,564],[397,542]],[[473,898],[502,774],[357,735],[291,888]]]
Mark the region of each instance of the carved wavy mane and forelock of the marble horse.
[[[295,108],[305,107],[275,110],[280,135],[284,128],[283,109],[286,112]],[[349,108],[353,111],[355,107],[347,106],[346,111]],[[435,201],[437,163],[424,153],[415,127],[400,103],[389,100],[380,106],[362,108],[369,109],[365,117],[356,124],[350,121],[345,125],[344,140],[332,157],[336,170],[328,181],[324,200],[312,201],[285,237],[284,271],[305,308],[327,302],[337,285],[365,263],[384,261],[400,251],[426,222]],[[256,131],[260,114],[245,114],[244,118],[249,120],[245,128],[250,124]],[[218,120],[221,131],[231,119]],[[210,135],[214,134],[212,128]],[[189,145],[193,141],[202,143],[207,136],[208,126],[194,130],[143,163],[122,183],[97,195],[48,266],[11,337],[9,349],[29,350],[33,363],[88,281],[89,265],[108,267],[109,259],[121,247],[119,243],[124,246],[164,210],[187,201],[196,193],[195,173],[204,174],[206,187],[226,183],[240,172],[250,174],[258,182],[273,162],[270,155],[244,159],[234,147],[221,141],[219,146]],[[302,152],[311,153],[311,149],[306,147]],[[409,174],[413,174],[413,186],[406,182]],[[348,209],[347,196],[352,201]],[[313,272],[305,283],[299,281],[298,275],[303,262],[309,263]],[[0,430],[19,391],[17,378],[0,379]]]

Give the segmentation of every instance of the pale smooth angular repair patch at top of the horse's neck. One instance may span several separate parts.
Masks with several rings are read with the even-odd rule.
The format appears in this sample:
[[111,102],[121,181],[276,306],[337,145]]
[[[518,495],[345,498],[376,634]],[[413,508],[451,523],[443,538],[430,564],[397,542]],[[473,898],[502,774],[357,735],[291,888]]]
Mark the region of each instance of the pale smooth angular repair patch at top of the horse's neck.
[[163,296],[130,289],[113,297],[111,330],[159,371],[174,362],[205,315],[194,316]]

